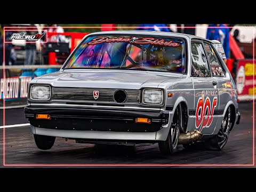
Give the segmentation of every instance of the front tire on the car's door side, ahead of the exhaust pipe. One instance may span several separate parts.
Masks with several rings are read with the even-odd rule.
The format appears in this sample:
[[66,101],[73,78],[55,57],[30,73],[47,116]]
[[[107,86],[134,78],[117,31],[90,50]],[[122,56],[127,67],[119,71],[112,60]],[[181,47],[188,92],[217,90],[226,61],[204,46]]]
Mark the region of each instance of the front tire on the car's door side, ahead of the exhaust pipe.
[[180,115],[181,114],[177,107],[172,118],[172,124],[167,139],[165,141],[158,142],[158,147],[162,154],[170,155],[177,149],[180,135]]

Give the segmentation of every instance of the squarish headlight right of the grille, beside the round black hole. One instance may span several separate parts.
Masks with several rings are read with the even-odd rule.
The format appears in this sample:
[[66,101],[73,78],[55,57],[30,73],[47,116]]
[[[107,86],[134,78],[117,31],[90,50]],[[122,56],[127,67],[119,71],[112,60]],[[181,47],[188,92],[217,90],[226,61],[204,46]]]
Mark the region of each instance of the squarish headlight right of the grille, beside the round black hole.
[[142,103],[149,105],[161,105],[163,103],[163,90],[144,89],[142,92]]

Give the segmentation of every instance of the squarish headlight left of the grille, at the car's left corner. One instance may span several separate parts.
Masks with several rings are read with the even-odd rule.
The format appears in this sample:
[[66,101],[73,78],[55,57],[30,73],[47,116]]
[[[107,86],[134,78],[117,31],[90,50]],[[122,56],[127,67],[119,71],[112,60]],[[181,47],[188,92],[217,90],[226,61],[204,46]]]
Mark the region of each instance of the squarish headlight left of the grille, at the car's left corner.
[[32,85],[30,87],[30,99],[50,100],[50,98],[51,98],[50,85]]

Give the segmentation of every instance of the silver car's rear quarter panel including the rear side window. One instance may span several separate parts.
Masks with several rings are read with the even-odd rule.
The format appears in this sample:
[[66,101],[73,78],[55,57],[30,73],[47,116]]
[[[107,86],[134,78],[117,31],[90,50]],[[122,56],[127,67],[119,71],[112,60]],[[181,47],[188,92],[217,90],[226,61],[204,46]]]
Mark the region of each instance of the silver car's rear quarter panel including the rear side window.
[[[222,62],[217,56],[217,52],[214,51],[213,46],[210,43],[204,42],[206,56],[210,64],[210,70],[212,76],[218,82],[219,89],[219,115],[223,115],[225,107],[228,101],[233,100],[235,97],[233,81],[230,80],[229,74],[226,74],[225,69],[222,66]],[[222,117],[220,117],[222,121]]]

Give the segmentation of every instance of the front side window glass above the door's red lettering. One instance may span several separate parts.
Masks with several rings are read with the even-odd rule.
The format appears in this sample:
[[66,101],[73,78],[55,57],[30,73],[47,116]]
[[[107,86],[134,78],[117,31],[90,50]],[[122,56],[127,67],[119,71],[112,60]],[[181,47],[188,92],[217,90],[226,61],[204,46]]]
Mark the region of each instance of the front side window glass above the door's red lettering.
[[210,77],[207,59],[201,43],[191,43],[191,61],[191,75],[195,77]]

